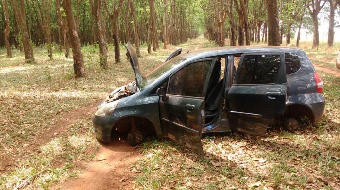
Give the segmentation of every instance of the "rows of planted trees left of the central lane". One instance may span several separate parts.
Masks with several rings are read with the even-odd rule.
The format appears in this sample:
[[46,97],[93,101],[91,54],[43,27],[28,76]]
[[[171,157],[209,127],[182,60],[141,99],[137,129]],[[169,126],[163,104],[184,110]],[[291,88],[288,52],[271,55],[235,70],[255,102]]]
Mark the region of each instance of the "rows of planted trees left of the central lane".
[[[169,2],[168,2],[169,1]],[[107,44],[113,44],[115,61],[120,62],[120,44],[146,44],[148,53],[169,44],[177,45],[198,36],[195,24],[197,0],[2,0],[0,46],[23,51],[34,62],[32,46],[45,45],[50,60],[53,46],[70,56],[75,76],[84,76],[81,46],[98,44],[100,65],[107,69]]]

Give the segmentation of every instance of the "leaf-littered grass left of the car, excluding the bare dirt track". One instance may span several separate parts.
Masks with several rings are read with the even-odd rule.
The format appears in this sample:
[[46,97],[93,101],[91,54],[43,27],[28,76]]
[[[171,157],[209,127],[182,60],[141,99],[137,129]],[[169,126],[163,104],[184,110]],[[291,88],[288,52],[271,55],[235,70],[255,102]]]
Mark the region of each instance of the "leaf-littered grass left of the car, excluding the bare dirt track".
[[[189,40],[181,47],[188,51],[198,44]],[[65,115],[68,111],[95,105],[108,92],[134,80],[125,47],[121,46],[121,63],[114,63],[113,47],[108,46],[106,71],[99,67],[98,47],[82,48],[86,76],[79,79],[73,78],[73,59],[65,58],[58,47],[54,47],[52,61],[46,47],[34,47],[35,63],[26,63],[15,49],[13,58],[6,58],[5,49],[0,49],[0,156],[13,159],[10,165],[0,167],[0,189],[12,189],[32,176],[26,189],[50,189],[57,181],[77,176],[80,166],[94,157],[100,144],[92,134],[91,116],[79,119],[56,138],[46,139],[42,146],[26,147],[34,145],[54,123],[72,118]],[[140,58],[144,73],[179,47],[151,55],[146,48],[141,48]]]

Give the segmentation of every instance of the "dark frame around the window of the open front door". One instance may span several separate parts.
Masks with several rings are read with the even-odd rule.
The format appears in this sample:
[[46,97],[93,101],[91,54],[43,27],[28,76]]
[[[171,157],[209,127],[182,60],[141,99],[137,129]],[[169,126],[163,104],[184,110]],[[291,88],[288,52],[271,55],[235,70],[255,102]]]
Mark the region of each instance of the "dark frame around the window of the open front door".
[[204,81],[204,86],[203,86],[203,90],[205,91],[204,93],[204,96],[203,97],[198,97],[198,96],[185,96],[185,95],[177,95],[177,94],[169,94],[169,88],[170,88],[170,80],[171,78],[176,74],[178,73],[179,71],[181,71],[182,69],[184,69],[185,67],[191,65],[191,64],[195,64],[195,63],[198,63],[198,62],[204,62],[204,61],[210,61],[210,67],[209,67],[209,71],[207,73],[207,76],[211,76],[211,73],[212,73],[212,70],[215,66],[215,63],[216,63],[216,60],[217,58],[202,58],[202,59],[197,59],[197,60],[193,60],[193,61],[190,61],[188,62],[187,64],[183,65],[182,67],[178,68],[177,70],[175,70],[173,73],[170,74],[169,76],[169,79],[168,79],[168,85],[167,85],[167,90],[166,90],[166,96],[177,96],[177,97],[187,97],[187,98],[195,98],[195,99],[205,99],[205,95],[206,95],[206,90],[207,90],[207,85],[208,85],[208,82],[210,79],[209,77],[207,77]]

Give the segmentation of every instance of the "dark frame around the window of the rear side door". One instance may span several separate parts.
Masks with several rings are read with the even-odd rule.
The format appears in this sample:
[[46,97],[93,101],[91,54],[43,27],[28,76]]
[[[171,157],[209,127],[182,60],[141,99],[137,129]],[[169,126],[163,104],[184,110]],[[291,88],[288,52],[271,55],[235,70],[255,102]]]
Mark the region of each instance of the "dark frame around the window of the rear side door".
[[[236,84],[238,81],[239,74],[241,72],[241,67],[243,65],[245,56],[257,56],[257,55],[279,55],[280,56],[280,69],[278,72],[278,76],[275,83],[262,83],[262,84]],[[261,85],[273,85],[273,84],[282,84],[286,83],[286,62],[285,62],[285,53],[277,53],[277,52],[263,52],[263,53],[245,53],[241,55],[240,62],[238,63],[238,68],[236,69],[233,86],[261,86]],[[234,55],[233,55],[234,59]]]

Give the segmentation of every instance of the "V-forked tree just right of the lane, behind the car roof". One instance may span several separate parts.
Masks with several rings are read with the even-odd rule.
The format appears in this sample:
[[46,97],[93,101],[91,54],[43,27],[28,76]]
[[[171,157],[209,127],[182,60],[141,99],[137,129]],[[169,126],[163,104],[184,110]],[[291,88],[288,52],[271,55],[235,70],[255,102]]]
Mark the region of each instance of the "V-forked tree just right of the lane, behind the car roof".
[[217,23],[218,38],[217,44],[220,47],[224,46],[224,23],[228,12],[228,0],[211,0],[213,7],[213,15]]

